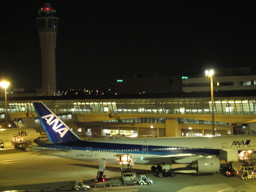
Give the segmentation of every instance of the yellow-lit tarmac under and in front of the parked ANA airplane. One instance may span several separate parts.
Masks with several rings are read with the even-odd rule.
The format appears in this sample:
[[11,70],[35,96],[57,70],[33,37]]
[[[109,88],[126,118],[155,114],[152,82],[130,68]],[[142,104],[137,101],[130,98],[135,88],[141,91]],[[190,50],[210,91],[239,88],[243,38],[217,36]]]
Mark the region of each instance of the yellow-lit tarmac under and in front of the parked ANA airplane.
[[[234,162],[236,170],[239,162]],[[176,165],[173,166],[175,168]],[[153,180],[152,185],[106,186],[94,188],[98,164],[70,160],[55,156],[43,155],[37,152],[26,152],[16,149],[0,150],[0,192],[1,191],[31,191],[55,192],[74,191],[76,180],[92,186],[92,191],[122,191],[122,192],[255,192],[256,180],[242,180],[236,176],[226,177],[220,173],[185,174],[176,173],[175,177],[158,178],[150,170],[151,166],[135,164],[137,178],[146,175]],[[178,168],[178,167],[176,167]],[[121,166],[106,166],[109,183],[122,182]]]

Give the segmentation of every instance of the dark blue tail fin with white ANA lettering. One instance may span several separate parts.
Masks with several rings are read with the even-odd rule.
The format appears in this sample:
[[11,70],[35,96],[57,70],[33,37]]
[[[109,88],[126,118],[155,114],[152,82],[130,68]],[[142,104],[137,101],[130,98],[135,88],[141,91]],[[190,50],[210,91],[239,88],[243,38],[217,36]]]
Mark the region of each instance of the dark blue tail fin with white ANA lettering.
[[42,102],[33,102],[33,105],[51,143],[66,143],[81,140],[45,104]]

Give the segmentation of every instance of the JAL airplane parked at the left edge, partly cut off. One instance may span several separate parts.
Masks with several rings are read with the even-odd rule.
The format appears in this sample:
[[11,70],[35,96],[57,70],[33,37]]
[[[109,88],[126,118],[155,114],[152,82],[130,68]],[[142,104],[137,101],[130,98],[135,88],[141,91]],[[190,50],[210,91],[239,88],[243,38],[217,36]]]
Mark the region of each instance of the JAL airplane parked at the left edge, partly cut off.
[[32,128],[0,130],[0,148],[11,148],[13,142],[26,142],[37,139],[40,133]]

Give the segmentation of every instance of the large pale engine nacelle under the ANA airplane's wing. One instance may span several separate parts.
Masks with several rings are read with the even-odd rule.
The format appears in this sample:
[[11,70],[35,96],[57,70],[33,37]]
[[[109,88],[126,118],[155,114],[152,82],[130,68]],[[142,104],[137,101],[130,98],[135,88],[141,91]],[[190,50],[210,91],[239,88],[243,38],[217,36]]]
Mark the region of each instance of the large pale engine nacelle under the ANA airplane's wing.
[[220,170],[220,159],[218,157],[205,157],[193,161],[187,167],[198,173],[214,173]]

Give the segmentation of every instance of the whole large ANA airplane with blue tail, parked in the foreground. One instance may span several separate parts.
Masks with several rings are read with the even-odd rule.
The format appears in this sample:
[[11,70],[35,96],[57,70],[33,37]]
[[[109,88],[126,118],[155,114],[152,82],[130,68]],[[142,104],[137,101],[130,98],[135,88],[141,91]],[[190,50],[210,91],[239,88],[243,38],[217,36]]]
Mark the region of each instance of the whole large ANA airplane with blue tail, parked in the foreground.
[[82,140],[42,102],[33,104],[51,142],[35,146],[34,151],[74,160],[99,162],[105,158],[108,164],[116,164],[118,155],[129,154],[134,163],[150,164],[153,171],[184,163],[196,172],[212,173],[220,169],[220,149],[256,148],[256,135]]

